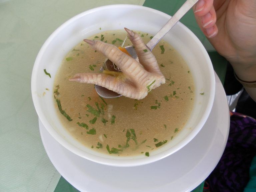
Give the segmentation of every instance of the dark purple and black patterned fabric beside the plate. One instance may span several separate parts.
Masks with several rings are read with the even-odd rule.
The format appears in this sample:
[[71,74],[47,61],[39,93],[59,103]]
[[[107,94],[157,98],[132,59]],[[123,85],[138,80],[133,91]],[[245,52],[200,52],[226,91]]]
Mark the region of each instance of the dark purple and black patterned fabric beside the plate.
[[256,120],[231,113],[230,131],[224,153],[207,178],[211,192],[242,192],[256,155]]

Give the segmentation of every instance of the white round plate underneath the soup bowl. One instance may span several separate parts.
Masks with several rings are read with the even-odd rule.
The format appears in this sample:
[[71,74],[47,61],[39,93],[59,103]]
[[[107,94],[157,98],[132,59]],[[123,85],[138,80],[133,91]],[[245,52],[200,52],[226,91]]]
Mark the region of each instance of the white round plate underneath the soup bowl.
[[228,138],[227,99],[219,78],[215,76],[215,100],[207,122],[190,143],[169,157],[137,167],[94,163],[60,145],[39,120],[45,150],[59,173],[80,191],[191,191],[217,165]]

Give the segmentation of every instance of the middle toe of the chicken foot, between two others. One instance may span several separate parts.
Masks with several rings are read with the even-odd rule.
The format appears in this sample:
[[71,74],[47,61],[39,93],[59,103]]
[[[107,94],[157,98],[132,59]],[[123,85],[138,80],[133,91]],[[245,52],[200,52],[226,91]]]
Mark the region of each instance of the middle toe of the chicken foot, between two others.
[[85,39],[85,42],[89,43],[92,48],[104,54],[109,60],[111,60],[115,65],[117,65],[125,77],[130,81],[138,81],[145,75],[149,75],[149,72],[146,71],[140,63],[135,59],[125,54],[119,50],[116,46],[104,43],[102,41],[92,41]]

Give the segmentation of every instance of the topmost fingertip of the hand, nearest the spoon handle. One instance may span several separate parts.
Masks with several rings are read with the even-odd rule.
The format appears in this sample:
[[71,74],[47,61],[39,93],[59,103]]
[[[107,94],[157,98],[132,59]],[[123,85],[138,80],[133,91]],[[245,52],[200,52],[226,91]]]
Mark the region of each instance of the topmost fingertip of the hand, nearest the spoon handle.
[[195,16],[201,17],[207,14],[213,6],[213,0],[199,0],[193,7]]

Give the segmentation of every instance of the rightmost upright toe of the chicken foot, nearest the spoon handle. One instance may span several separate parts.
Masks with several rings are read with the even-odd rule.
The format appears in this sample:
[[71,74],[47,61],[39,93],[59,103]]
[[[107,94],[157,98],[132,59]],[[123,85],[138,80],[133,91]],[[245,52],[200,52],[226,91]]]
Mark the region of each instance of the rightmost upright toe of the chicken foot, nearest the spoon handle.
[[145,45],[145,43],[143,42],[141,37],[137,33],[133,32],[127,28],[124,28],[124,29],[126,30],[128,37],[131,40],[131,42],[136,50],[140,64],[143,65],[145,70],[148,72],[155,72],[158,74],[162,74],[159,69],[159,66],[157,64],[157,60],[156,60],[155,56],[147,48],[147,46]]

